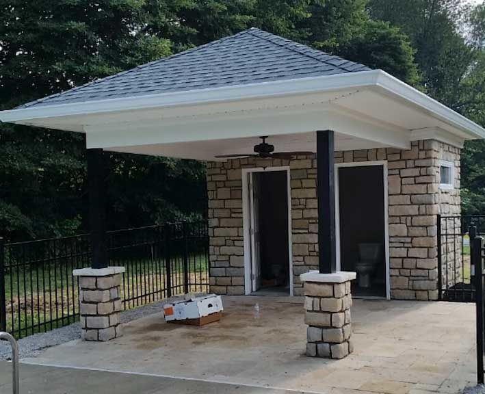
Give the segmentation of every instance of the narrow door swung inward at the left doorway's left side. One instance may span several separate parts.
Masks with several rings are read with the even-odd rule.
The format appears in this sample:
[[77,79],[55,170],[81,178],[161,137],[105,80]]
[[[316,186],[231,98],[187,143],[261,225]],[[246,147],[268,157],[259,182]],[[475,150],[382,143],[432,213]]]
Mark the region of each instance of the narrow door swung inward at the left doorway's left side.
[[250,235],[251,235],[251,282],[252,291],[261,287],[261,261],[259,257],[259,176],[249,174]]

